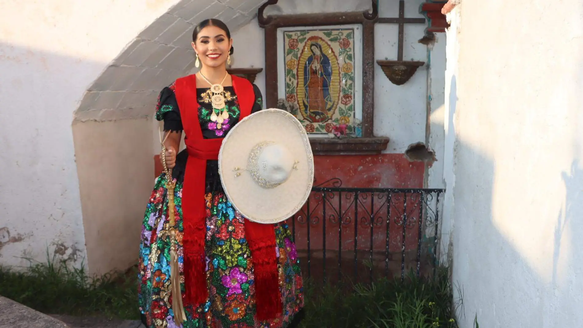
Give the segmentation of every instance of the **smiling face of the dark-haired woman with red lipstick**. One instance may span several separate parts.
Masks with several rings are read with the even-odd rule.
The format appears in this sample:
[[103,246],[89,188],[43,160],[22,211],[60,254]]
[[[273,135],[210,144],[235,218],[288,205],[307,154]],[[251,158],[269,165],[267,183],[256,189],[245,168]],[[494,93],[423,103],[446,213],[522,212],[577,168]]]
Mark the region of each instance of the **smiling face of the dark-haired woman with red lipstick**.
[[196,36],[192,48],[199,60],[208,67],[219,67],[227,60],[233,39],[227,39],[227,33],[216,26],[207,26]]

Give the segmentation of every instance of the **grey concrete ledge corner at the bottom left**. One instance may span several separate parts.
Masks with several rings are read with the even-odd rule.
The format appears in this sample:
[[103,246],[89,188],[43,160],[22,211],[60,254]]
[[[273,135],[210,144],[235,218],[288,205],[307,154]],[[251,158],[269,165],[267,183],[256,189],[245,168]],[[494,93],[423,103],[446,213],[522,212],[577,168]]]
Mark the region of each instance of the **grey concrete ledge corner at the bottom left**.
[[0,327],[70,328],[65,323],[0,296]]

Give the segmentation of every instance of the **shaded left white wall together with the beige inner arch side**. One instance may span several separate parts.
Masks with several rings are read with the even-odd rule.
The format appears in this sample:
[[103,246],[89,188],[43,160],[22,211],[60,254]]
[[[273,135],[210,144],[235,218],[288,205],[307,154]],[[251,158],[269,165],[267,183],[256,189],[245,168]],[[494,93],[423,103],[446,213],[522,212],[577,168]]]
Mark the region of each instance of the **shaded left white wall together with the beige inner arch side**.
[[107,63],[12,44],[0,44],[0,58],[0,184],[10,186],[0,194],[0,229],[10,232],[2,265],[44,262],[47,246],[90,274],[134,264],[152,190],[152,121],[72,123]]

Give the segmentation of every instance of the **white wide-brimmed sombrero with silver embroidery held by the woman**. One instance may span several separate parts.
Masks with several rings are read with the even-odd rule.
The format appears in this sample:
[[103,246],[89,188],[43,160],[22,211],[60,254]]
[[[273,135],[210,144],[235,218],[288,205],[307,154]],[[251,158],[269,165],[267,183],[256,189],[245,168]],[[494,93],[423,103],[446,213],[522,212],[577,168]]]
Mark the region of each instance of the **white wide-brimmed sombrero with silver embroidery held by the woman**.
[[285,221],[300,210],[314,183],[310,140],[287,111],[257,111],[224,138],[219,173],[225,194],[245,218]]

